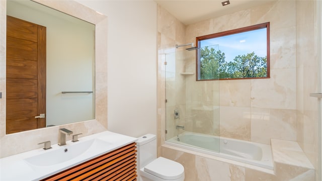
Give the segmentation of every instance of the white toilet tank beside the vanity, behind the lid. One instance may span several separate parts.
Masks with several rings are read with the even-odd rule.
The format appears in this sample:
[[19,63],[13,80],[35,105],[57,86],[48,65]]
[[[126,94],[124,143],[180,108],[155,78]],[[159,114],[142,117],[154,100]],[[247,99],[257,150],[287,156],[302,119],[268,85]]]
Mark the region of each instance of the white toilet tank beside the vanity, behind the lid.
[[141,169],[149,162],[156,159],[156,136],[146,134],[138,137],[137,147],[137,166]]

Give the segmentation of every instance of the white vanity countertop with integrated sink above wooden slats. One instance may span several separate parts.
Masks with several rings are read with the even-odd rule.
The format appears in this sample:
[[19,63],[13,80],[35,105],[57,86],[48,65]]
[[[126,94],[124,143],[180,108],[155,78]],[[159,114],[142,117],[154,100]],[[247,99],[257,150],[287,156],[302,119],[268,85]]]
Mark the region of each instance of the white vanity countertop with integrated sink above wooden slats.
[[[137,141],[137,138],[113,133],[110,131],[104,131],[89,136],[79,137],[78,140],[79,141],[77,142],[72,142],[71,140],[66,141],[66,145],[63,146],[54,144],[51,145],[52,148],[48,150],[39,148],[1,158],[0,180],[43,179],[62,170],[75,166],[79,163],[88,161],[99,155],[118,149],[129,143],[133,143]],[[75,150],[73,149],[77,149],[76,145],[86,145],[87,148],[83,152],[81,151],[77,153],[76,156],[74,156]],[[64,154],[61,153],[61,150],[66,149],[69,149],[70,153],[73,153],[72,158],[59,161],[62,156],[55,157],[55,155]],[[58,154],[56,154],[55,152],[58,152]],[[54,159],[48,158],[50,160],[48,161],[46,155],[51,155],[51,157],[54,157]],[[37,159],[34,159],[35,157]]]

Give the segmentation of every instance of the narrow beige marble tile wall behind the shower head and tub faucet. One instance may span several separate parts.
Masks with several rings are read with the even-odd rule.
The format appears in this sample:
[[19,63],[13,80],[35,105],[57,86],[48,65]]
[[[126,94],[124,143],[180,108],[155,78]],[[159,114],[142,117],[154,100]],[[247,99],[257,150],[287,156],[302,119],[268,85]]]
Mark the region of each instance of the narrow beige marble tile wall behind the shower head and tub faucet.
[[[189,55],[187,56],[187,51],[183,51],[184,48],[176,49],[175,46],[185,44],[185,25],[160,6],[157,7],[157,39],[158,117],[165,114],[167,124],[162,125],[166,125],[167,138],[171,138],[184,131],[176,129],[176,125],[186,126],[186,76],[181,75],[181,72],[185,72],[186,58]],[[179,110],[179,119],[174,118],[175,110]],[[164,129],[157,130],[158,133],[165,132]]]

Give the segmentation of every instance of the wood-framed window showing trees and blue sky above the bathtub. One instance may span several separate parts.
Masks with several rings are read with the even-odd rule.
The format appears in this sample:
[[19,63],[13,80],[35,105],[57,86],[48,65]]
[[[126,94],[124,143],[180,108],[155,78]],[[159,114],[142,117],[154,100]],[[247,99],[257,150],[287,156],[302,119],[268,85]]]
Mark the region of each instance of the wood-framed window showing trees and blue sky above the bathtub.
[[197,80],[269,78],[269,25],[197,37]]

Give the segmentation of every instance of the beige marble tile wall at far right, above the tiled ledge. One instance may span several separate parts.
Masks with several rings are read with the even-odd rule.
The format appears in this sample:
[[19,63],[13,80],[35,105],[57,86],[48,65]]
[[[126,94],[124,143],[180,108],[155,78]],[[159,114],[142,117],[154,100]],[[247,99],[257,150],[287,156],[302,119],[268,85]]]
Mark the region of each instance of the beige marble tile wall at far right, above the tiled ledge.
[[[297,142],[315,168],[318,168],[317,99],[319,92],[316,40],[316,9],[313,1],[296,1]],[[307,12],[315,12],[307,13]],[[308,36],[309,35],[309,36]]]

